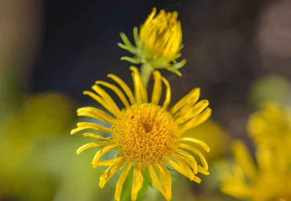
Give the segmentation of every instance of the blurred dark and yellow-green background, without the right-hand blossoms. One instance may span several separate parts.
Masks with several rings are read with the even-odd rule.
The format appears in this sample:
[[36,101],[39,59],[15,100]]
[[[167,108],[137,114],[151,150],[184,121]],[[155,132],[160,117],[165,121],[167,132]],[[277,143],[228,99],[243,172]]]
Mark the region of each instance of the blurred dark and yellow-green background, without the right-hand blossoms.
[[291,0],[1,0],[0,201],[113,201],[116,178],[100,189],[96,150],[77,156],[90,139],[69,131],[78,107],[98,107],[82,95],[96,80],[113,73],[133,87],[120,60],[130,54],[116,44],[121,31],[132,41],[153,7],[178,11],[183,31],[182,77],[161,71],[172,103],[200,87],[213,109],[189,131],[210,146],[210,176],[199,185],[177,175],[173,201],[235,201],[219,192],[215,167],[231,139],[253,150],[246,122],[260,102],[290,103]]

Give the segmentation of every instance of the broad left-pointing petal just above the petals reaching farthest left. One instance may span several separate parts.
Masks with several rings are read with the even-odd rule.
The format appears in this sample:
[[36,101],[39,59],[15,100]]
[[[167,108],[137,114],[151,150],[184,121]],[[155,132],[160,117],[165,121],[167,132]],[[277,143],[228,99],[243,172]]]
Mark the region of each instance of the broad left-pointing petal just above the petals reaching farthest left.
[[103,122],[108,122],[110,124],[113,124],[115,120],[112,116],[110,116],[106,112],[94,107],[79,108],[77,109],[77,115],[96,118],[98,120],[101,120]]

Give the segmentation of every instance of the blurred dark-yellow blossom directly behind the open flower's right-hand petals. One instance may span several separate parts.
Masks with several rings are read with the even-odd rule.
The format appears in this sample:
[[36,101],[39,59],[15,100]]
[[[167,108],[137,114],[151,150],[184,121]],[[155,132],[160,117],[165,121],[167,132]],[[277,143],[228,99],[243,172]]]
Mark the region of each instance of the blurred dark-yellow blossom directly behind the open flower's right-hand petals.
[[206,156],[208,160],[225,155],[229,147],[226,130],[213,119],[208,119],[203,124],[189,129],[181,137],[200,139],[208,144],[211,147],[211,152]]

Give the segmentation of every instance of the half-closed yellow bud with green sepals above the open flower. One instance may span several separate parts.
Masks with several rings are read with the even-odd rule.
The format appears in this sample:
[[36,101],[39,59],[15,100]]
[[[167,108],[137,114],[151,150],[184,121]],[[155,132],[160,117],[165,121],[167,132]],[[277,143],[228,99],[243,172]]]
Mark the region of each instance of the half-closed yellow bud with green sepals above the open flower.
[[176,11],[166,13],[165,10],[161,10],[156,15],[156,8],[153,8],[141,25],[140,33],[138,34],[137,27],[133,29],[136,46],[130,43],[124,33],[120,34],[124,44],[118,43],[118,46],[135,55],[133,58],[121,59],[135,64],[145,63],[151,70],[165,68],[181,76],[178,69],[185,65],[186,60],[176,62],[181,56],[180,50],[183,47],[181,23],[177,17]]

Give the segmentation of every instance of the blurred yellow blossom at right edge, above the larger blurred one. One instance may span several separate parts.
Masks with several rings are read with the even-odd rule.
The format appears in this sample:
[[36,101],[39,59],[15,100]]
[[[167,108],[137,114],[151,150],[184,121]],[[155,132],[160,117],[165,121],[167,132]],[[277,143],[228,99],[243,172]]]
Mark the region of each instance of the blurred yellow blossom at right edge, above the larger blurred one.
[[280,103],[261,104],[260,111],[250,116],[247,130],[260,146],[279,149],[283,155],[291,156],[291,118]]

